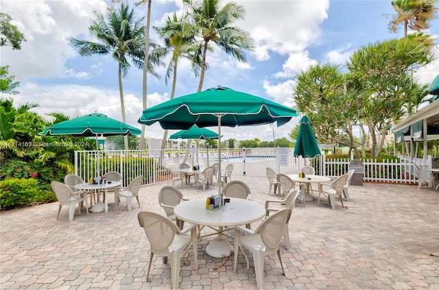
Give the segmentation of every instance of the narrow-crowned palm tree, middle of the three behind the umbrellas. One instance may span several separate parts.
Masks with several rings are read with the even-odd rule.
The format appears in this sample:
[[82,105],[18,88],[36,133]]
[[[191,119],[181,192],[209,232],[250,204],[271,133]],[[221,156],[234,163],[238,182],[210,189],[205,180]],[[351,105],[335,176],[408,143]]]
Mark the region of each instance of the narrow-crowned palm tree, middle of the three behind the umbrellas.
[[[165,83],[167,85],[172,74],[171,100],[174,98],[176,92],[178,60],[180,60],[181,57],[194,60],[193,52],[196,49],[196,42],[191,27],[192,26],[184,20],[184,16],[178,18],[176,13],[174,13],[172,18],[168,16],[165,25],[154,27],[158,35],[163,38],[168,53],[172,53],[165,76]],[[201,66],[200,60],[195,60],[195,62],[192,63],[192,66],[195,75],[197,75]],[[162,149],[165,149],[167,133],[168,130],[165,130],[165,133],[163,134]]]

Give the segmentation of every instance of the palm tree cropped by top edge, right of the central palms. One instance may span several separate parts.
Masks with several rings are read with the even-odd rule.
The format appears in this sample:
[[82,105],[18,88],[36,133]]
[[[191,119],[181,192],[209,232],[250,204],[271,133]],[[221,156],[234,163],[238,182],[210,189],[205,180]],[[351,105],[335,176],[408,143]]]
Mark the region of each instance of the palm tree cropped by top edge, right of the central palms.
[[234,21],[244,19],[245,10],[241,5],[230,2],[219,9],[219,0],[183,0],[183,3],[189,8],[188,16],[193,18],[195,36],[201,38],[194,55],[195,60],[202,60],[198,84],[198,92],[201,92],[209,42],[233,55],[239,62],[247,62],[245,51],[253,49],[253,41],[247,31],[232,26]]

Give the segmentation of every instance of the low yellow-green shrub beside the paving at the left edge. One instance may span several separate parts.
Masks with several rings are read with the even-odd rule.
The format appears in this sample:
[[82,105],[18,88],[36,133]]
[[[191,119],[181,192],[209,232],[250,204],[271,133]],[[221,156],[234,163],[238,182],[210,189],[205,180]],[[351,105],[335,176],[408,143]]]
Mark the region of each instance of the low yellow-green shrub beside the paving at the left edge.
[[41,190],[36,179],[5,179],[0,181],[0,209],[17,209],[56,200],[53,192]]

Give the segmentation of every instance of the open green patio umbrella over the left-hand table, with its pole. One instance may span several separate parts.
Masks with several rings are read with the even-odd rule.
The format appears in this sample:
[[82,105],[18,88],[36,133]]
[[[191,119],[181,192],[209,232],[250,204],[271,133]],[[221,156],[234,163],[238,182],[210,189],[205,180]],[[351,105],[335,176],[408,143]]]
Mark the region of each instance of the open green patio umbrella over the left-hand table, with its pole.
[[[115,135],[140,135],[142,132],[136,127],[112,119],[104,114],[93,113],[73,118],[64,122],[59,122],[45,131],[38,133],[42,136],[71,135],[73,137],[95,137],[96,151],[99,149],[99,136]],[[99,156],[99,155],[98,155]],[[99,174],[99,162],[97,162],[97,174]]]

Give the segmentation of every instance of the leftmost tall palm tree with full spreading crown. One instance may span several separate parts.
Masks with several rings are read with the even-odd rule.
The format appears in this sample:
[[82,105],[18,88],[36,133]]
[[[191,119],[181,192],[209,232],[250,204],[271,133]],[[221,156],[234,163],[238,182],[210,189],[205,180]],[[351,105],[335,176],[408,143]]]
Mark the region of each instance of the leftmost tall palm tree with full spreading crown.
[[[119,64],[119,94],[121,98],[122,122],[126,122],[125,105],[123,103],[122,76],[126,77],[131,64],[143,68],[145,57],[145,34],[143,18],[135,19],[134,10],[121,3],[119,10],[108,8],[106,17],[95,12],[95,21],[88,27],[93,36],[100,42],[90,42],[71,38],[72,44],[79,49],[80,55],[108,55]],[[149,62],[148,62],[149,64]],[[147,66],[150,69],[150,66]],[[152,68],[151,68],[152,69]],[[125,149],[128,149],[128,137],[124,138]]]

